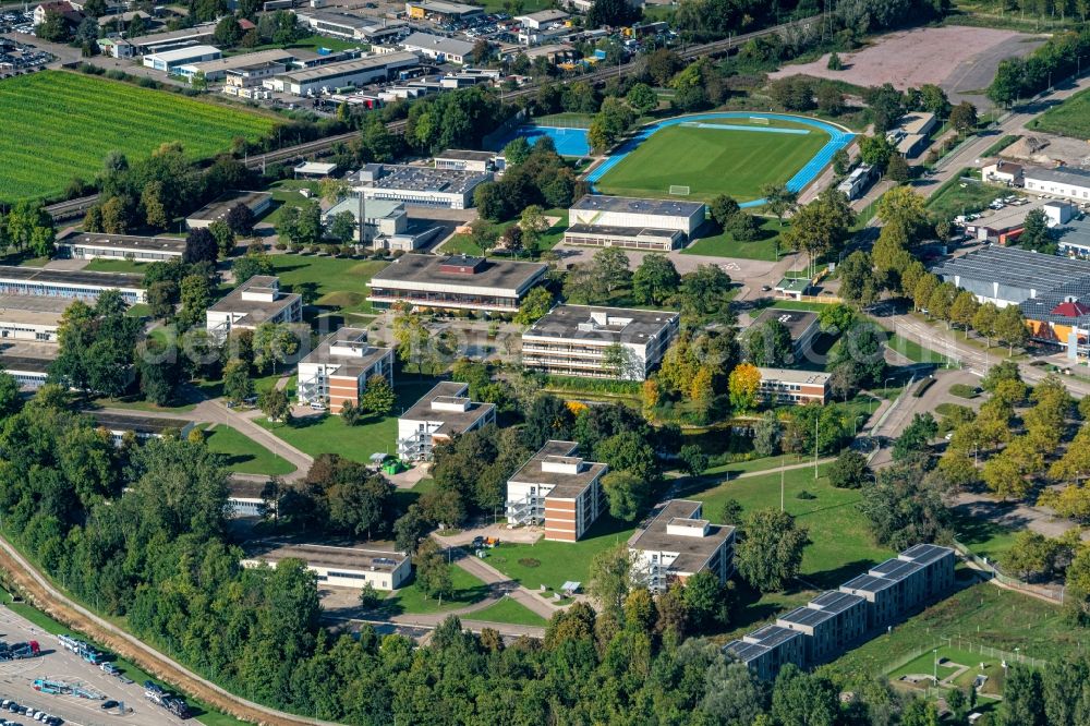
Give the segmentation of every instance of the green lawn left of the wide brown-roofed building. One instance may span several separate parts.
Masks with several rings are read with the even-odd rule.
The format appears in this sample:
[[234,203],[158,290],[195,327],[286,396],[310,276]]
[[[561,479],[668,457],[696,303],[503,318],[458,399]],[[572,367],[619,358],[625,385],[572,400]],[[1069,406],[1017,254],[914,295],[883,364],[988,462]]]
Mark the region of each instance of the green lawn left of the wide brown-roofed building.
[[367,281],[388,265],[378,259],[342,259],[312,255],[272,255],[280,285],[303,295],[303,302],[342,313],[370,313]]

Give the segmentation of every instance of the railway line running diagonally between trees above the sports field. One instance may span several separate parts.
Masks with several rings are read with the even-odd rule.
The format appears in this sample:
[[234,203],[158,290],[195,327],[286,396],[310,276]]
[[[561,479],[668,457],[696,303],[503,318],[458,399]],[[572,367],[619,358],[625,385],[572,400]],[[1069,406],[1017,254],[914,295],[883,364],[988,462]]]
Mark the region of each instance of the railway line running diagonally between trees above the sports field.
[[[765,35],[772,35],[779,33],[783,29],[792,26],[808,26],[810,23],[820,20],[819,16],[806,17],[799,21],[791,21],[790,23],[783,23],[780,25],[775,25],[773,27],[766,27],[761,31],[754,31],[752,33],[743,33],[741,35],[736,35],[729,38],[724,38],[723,40],[714,40],[712,43],[700,44],[695,46],[689,46],[688,48],[681,48],[678,51],[678,56],[683,60],[692,60],[694,58],[700,58],[702,56],[718,56],[723,53],[729,53],[736,48],[740,48],[742,45],[752,40],[754,38],[760,38]],[[610,78],[623,76],[630,70],[630,63],[623,63],[621,65],[613,65],[609,68],[603,68],[591,73],[579,76],[580,81],[588,81],[594,84],[603,83]],[[505,99],[511,98],[522,98],[524,96],[530,96],[537,93],[538,84],[528,84],[521,88],[516,88],[509,93],[504,94]],[[386,128],[396,134],[403,134],[405,130],[407,122],[404,119],[398,121],[391,121],[386,124]],[[251,169],[264,169],[265,166],[269,164],[277,164],[280,161],[289,161],[293,159],[303,158],[312,154],[322,154],[334,148],[338,144],[347,143],[359,135],[358,132],[350,132],[347,134],[337,134],[334,136],[326,136],[325,138],[317,138],[315,141],[304,142],[302,144],[296,144],[294,146],[287,146],[284,148],[276,149],[272,152],[266,152],[265,154],[257,154],[246,158],[246,166]],[[46,211],[56,221],[74,219],[76,217],[83,216],[88,207],[94,206],[98,202],[98,195],[93,194],[90,196],[83,196],[75,199],[69,199],[66,202],[60,202],[58,204],[50,205],[46,207]]]

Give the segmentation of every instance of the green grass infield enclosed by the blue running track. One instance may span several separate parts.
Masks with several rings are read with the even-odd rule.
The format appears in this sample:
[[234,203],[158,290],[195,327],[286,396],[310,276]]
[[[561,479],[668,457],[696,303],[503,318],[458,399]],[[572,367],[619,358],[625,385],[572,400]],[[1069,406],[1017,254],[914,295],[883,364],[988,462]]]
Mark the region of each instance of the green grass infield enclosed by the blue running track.
[[[729,119],[743,125],[744,119]],[[773,125],[807,134],[666,126],[595,183],[603,194],[665,197],[670,185],[707,201],[727,194],[738,202],[761,197],[764,184],[783,184],[828,142],[828,134],[786,121]]]

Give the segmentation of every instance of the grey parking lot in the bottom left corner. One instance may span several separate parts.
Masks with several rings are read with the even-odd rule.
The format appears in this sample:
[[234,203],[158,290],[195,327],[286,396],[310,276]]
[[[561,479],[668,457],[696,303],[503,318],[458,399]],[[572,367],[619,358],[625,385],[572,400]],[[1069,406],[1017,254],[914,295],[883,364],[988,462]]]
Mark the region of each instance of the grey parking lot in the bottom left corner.
[[[8,643],[36,640],[41,649],[41,654],[37,657],[0,662],[0,699],[11,699],[20,705],[45,711],[63,718],[66,724],[78,726],[111,724],[159,726],[186,723],[148,702],[144,698],[144,687],[140,682],[125,685],[99,667],[84,662],[74,653],[61,649],[55,636],[43,632],[40,628],[7,607],[0,607],[0,640]],[[34,689],[35,679],[63,681],[96,691],[105,699],[123,702],[125,713],[121,714],[119,709],[104,711],[100,707],[102,700],[38,692]],[[0,718],[24,726],[37,723],[10,711],[0,711]]]

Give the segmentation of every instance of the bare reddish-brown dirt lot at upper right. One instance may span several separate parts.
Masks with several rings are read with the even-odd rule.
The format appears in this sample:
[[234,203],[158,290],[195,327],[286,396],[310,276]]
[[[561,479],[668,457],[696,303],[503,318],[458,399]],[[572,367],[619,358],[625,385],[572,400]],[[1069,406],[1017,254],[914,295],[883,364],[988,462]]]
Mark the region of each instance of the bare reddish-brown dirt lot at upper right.
[[925,27],[884,35],[868,47],[843,56],[843,71],[828,70],[825,55],[812,63],[788,65],[771,75],[777,78],[801,73],[859,86],[892,83],[901,90],[934,83],[954,102],[969,100],[985,107],[990,106],[988,99],[974,92],[992,82],[1000,61],[1026,56],[1042,43],[1042,37],[1014,31]]

